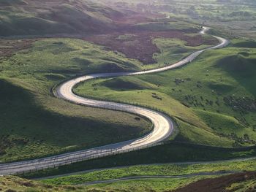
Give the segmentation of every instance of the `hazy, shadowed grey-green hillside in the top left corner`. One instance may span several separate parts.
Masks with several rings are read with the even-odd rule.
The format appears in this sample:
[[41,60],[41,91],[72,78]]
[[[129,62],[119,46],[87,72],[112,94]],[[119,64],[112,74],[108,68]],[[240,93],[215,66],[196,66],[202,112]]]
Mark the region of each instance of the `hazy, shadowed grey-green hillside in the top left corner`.
[[113,27],[115,14],[91,1],[1,0],[0,36],[99,33]]

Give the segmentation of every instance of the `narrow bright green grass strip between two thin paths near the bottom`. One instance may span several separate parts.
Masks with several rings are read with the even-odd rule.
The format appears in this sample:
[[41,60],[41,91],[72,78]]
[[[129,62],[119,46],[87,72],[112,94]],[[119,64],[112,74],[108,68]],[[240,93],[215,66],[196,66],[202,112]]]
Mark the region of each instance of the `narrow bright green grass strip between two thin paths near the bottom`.
[[73,174],[70,176],[56,177],[42,180],[44,183],[57,185],[77,185],[95,180],[111,180],[122,177],[133,177],[143,175],[183,175],[201,172],[222,171],[254,171],[255,159],[246,161],[227,161],[212,164],[165,164],[148,166],[129,166],[119,169],[105,169],[84,174]]

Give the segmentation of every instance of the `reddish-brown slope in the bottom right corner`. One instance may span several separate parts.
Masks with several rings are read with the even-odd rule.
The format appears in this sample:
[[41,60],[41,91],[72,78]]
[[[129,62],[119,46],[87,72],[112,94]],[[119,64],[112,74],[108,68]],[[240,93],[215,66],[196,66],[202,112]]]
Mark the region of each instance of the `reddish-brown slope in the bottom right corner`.
[[[226,188],[228,188],[233,183],[240,183],[247,180],[256,180],[256,172],[230,174],[214,179],[199,180],[195,183],[191,183],[185,186],[184,188],[179,188],[172,192],[232,192],[230,190],[226,190]],[[246,192],[253,191],[256,191],[254,186],[252,186],[252,188]]]

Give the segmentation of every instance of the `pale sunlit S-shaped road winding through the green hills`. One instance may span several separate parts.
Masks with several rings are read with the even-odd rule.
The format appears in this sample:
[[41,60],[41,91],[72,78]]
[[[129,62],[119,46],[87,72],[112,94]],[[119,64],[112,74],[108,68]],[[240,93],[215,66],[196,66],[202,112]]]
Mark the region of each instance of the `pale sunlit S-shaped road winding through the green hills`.
[[[209,28],[203,27],[203,30],[200,31],[200,34],[205,34]],[[151,69],[143,72],[120,72],[120,73],[98,73],[98,74],[89,74],[83,77],[76,77],[73,80],[68,80],[67,82],[62,83],[56,88],[56,96],[70,101],[75,104],[82,104],[89,107],[99,107],[108,110],[119,110],[124,112],[131,112],[133,114],[142,115],[154,124],[154,130],[147,134],[144,137],[138,139],[132,139],[125,142],[119,142],[116,144],[105,145],[102,147],[95,147],[89,150],[80,150],[73,153],[65,153],[62,155],[55,155],[48,158],[39,158],[29,161],[20,161],[14,163],[0,164],[0,174],[18,174],[23,172],[31,172],[39,169],[47,169],[50,167],[56,167],[66,164],[72,164],[78,161],[85,161],[92,158],[99,158],[107,155],[113,155],[118,153],[125,153],[132,150],[138,150],[146,147],[151,147],[158,145],[163,140],[170,137],[173,133],[173,122],[167,115],[162,112],[156,112],[154,110],[149,110],[145,107],[135,107],[129,104],[120,104],[109,101],[97,101],[94,99],[86,99],[81,96],[77,96],[72,92],[72,88],[77,85],[79,82],[86,80],[91,80],[94,78],[102,77],[121,77],[121,76],[131,76],[139,74],[150,74],[156,72],[163,72],[169,69],[175,69],[185,64],[190,63],[195,60],[200,53],[203,53],[205,50],[219,49],[228,45],[228,40],[222,37],[216,37],[219,40],[219,45],[213,47],[208,47],[203,50],[198,50],[195,53],[187,56],[181,61],[178,61],[176,64],[165,66],[159,69]]]

